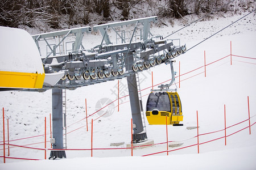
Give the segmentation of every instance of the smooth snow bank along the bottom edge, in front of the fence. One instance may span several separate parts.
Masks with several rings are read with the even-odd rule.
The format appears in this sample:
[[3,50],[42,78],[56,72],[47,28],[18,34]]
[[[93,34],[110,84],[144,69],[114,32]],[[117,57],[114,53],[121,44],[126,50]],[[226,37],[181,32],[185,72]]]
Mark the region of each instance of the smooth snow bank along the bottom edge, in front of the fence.
[[[256,145],[203,154],[170,156],[127,156],[114,158],[73,158],[0,164],[0,169],[255,169]],[[232,159],[229,159],[229,158]]]

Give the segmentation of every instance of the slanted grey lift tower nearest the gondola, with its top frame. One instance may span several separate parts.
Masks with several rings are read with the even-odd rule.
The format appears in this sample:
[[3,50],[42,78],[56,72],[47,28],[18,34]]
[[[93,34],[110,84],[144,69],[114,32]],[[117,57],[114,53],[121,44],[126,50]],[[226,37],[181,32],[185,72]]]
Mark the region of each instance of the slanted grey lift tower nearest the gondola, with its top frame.
[[[141,18],[141,19],[134,19],[134,20],[127,20],[125,22],[118,22],[118,23],[110,23],[110,24],[102,24],[93,27],[94,31],[100,31],[105,41],[106,45],[112,44],[113,42],[110,41],[108,31],[112,29],[117,37],[116,42],[121,42],[121,44],[126,44],[126,48],[131,48],[131,43],[134,41],[146,41],[152,35],[150,33],[150,24],[151,22],[156,23],[158,18],[156,16]],[[122,29],[130,25],[134,27],[131,31],[126,31]],[[133,25],[133,26],[132,26]],[[119,28],[119,29],[117,29]],[[122,29],[122,31],[117,31]],[[102,40],[102,41],[103,41]],[[101,43],[102,45],[102,43]],[[124,53],[123,56],[125,58],[125,65],[126,70],[133,70],[134,66],[134,51],[129,50],[127,53]],[[123,69],[123,68],[121,68]],[[146,130],[143,127],[142,115],[141,115],[141,103],[139,101],[138,95],[138,84],[137,78],[135,76],[135,72],[131,72],[129,76],[127,76],[127,85],[129,90],[129,97],[130,97],[130,106],[131,106],[131,116],[133,118],[133,143],[140,143],[147,141],[147,134]]]

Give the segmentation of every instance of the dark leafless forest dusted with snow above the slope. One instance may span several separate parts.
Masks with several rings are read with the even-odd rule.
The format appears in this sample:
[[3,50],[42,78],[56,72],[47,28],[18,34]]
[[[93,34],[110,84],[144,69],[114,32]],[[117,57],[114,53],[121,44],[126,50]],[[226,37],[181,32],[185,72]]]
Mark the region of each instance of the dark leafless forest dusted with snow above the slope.
[[[89,25],[147,16],[183,18],[185,15],[234,13],[251,10],[255,0],[1,0],[0,25],[40,27]],[[228,3],[231,2],[231,3]],[[226,5],[228,3],[228,5]]]

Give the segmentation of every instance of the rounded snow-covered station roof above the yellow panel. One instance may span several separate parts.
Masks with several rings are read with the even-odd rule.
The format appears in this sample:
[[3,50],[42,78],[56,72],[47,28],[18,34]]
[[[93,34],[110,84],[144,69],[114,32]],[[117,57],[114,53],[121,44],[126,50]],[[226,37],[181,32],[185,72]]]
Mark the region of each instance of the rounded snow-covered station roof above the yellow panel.
[[27,31],[0,27],[0,50],[0,71],[44,73],[38,48]]

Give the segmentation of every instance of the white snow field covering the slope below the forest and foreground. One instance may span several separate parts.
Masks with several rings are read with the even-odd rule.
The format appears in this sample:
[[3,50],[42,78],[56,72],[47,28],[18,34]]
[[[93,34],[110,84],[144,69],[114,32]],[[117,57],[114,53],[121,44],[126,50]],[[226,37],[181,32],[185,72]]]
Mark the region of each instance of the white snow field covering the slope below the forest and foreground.
[[[242,14],[243,15],[243,14]],[[224,28],[232,21],[241,18],[242,15],[235,15],[229,18],[216,18],[209,21],[193,24],[183,31],[168,37],[170,39],[180,38],[181,44],[187,48],[197,44],[212,33]],[[134,149],[131,156],[130,149],[124,150],[93,150],[88,151],[66,151],[67,159],[43,160],[44,151],[32,150],[20,147],[10,148],[10,157],[42,159],[18,160],[0,158],[0,169],[256,169],[256,22],[255,14],[232,25],[210,38],[187,53],[177,57],[174,69],[179,75],[180,62],[180,88],[179,77],[176,78],[177,92],[181,97],[183,107],[184,126],[168,125],[168,141],[172,143],[183,143],[179,147],[169,147],[169,150],[195,145],[176,151],[142,156],[154,152],[166,151],[166,143],[152,147]],[[152,27],[151,32],[167,36],[172,31],[181,28],[182,25],[174,27]],[[95,37],[95,38],[94,38]],[[88,35],[86,47],[100,44],[99,35]],[[95,42],[97,41],[97,42]],[[98,42],[99,41],[99,42]],[[249,58],[230,56],[230,41],[232,41],[232,54]],[[95,42],[95,44],[94,44]],[[85,42],[84,42],[85,43]],[[86,46],[87,45],[87,46]],[[214,62],[204,67],[204,50],[206,63]],[[253,59],[254,58],[254,59]],[[162,83],[171,78],[169,65],[155,66],[147,71],[139,73],[141,80],[143,108],[147,101],[147,94],[150,93],[151,73],[153,73],[154,85]],[[185,75],[183,75],[185,74]],[[192,76],[192,77],[191,77]],[[112,101],[117,99],[117,80],[95,84],[93,86],[81,87],[76,90],[67,90],[67,147],[68,148],[90,148],[92,118],[95,120],[100,115],[96,112],[96,103],[102,98]],[[168,81],[166,82],[168,83]],[[126,79],[119,80],[120,96],[128,95]],[[155,86],[154,88],[157,88]],[[172,86],[175,88],[175,86]],[[39,92],[0,92],[0,107],[5,108],[5,118],[9,118],[10,141],[20,138],[34,137],[11,141],[13,145],[26,145],[28,147],[44,148],[44,117],[47,117],[47,141],[49,141],[49,114],[52,112],[51,90]],[[250,106],[251,134],[249,134],[248,103]],[[86,130],[85,99],[87,100],[88,131]],[[107,117],[100,117],[93,122],[93,148],[117,148],[110,146],[110,143],[125,142],[118,147],[126,147],[131,138],[131,112],[129,97],[120,99],[119,112],[117,101],[115,111]],[[226,106],[226,127],[242,122],[232,128],[226,129],[224,137],[224,104]],[[108,108],[111,109],[111,108]],[[107,110],[107,108],[105,108]],[[199,143],[221,138],[199,146],[200,153],[197,153],[197,130],[187,130],[189,126],[197,126],[196,112],[199,115],[199,134],[222,130],[217,133],[199,136]],[[81,121],[80,121],[81,120]],[[5,121],[6,122],[6,121]],[[146,121],[147,124],[147,121]],[[2,118],[0,122],[0,141],[3,141]],[[147,137],[155,143],[166,142],[165,125],[148,125]],[[6,135],[7,139],[7,135]],[[1,142],[2,144],[3,142]],[[30,145],[32,143],[37,143]],[[6,146],[7,147],[7,146]],[[47,142],[47,148],[50,148]],[[3,150],[1,146],[1,154]],[[47,157],[50,151],[47,150]],[[7,150],[6,150],[7,155]],[[8,156],[7,156],[8,157]]]

